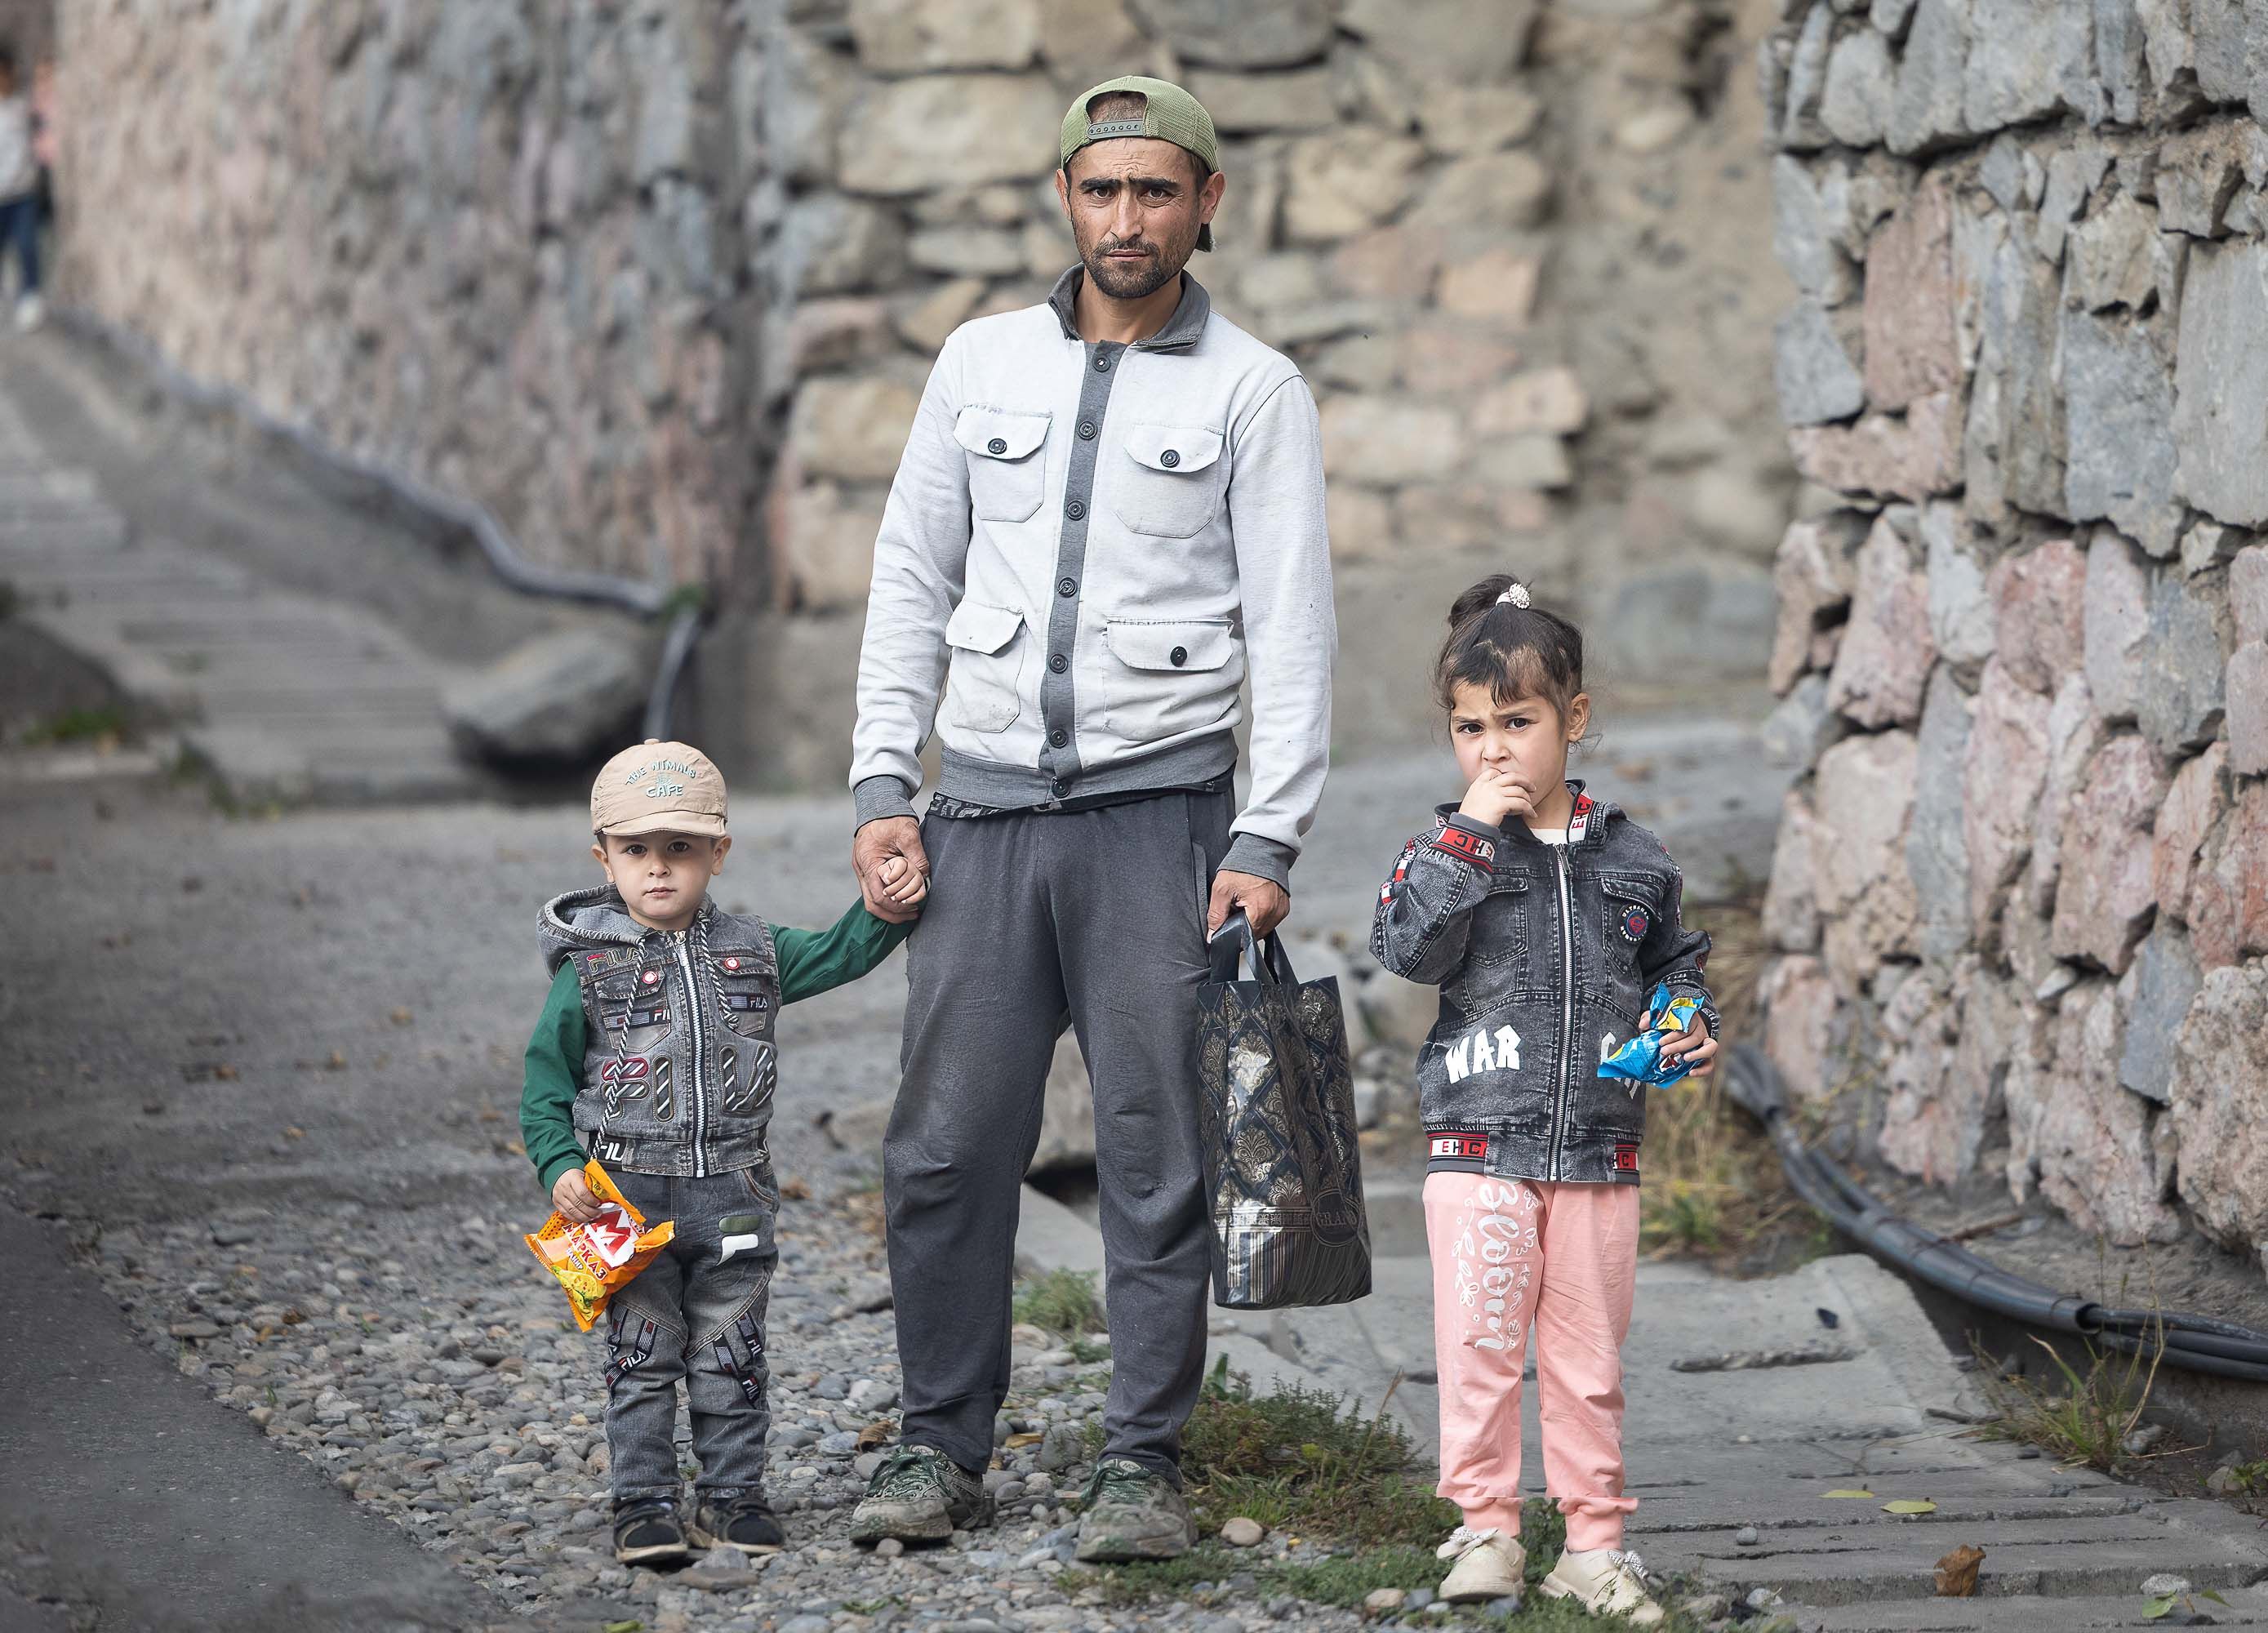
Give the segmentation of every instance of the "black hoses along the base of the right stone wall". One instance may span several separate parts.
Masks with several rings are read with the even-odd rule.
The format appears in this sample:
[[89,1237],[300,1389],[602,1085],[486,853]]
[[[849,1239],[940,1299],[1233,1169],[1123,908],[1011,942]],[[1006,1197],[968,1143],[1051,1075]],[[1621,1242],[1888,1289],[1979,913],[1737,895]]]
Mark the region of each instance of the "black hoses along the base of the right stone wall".
[[1839,1164],[1810,1150],[1787,1116],[1780,1073],[1760,1048],[1730,1048],[1724,1075],[1733,1105],[1762,1123],[1778,1145],[1789,1188],[1878,1259],[2009,1320],[2077,1334],[2118,1354],[2155,1356],[2191,1372],[2268,1384],[2268,1334],[2211,1315],[2107,1309],[2000,1270],[1962,1243],[1892,1213]]

